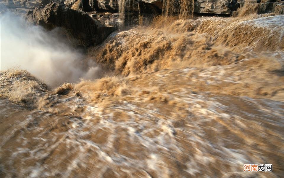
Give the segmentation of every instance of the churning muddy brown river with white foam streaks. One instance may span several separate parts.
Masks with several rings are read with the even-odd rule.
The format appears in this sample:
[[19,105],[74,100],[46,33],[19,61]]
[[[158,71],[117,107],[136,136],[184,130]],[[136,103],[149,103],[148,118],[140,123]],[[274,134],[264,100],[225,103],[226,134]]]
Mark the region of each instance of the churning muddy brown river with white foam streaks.
[[1,63],[33,58],[1,70],[1,177],[283,176],[284,15],[157,17],[84,56],[14,34]]

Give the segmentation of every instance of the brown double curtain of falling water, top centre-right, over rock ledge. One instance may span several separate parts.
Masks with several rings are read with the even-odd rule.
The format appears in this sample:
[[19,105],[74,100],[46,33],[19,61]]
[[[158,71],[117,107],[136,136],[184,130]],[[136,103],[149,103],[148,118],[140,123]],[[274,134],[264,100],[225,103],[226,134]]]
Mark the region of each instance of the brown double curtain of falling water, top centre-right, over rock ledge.
[[180,19],[193,18],[194,0],[165,0],[162,15],[176,16]]

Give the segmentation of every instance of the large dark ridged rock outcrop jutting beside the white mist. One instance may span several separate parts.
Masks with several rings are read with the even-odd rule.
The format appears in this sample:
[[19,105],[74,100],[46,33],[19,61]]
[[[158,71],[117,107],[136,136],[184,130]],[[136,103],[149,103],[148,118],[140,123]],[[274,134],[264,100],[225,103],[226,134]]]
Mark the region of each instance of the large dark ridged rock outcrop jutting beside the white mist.
[[85,12],[54,2],[28,12],[27,18],[48,30],[60,27],[60,34],[66,36],[75,46],[99,44],[114,30],[113,27],[102,25]]

